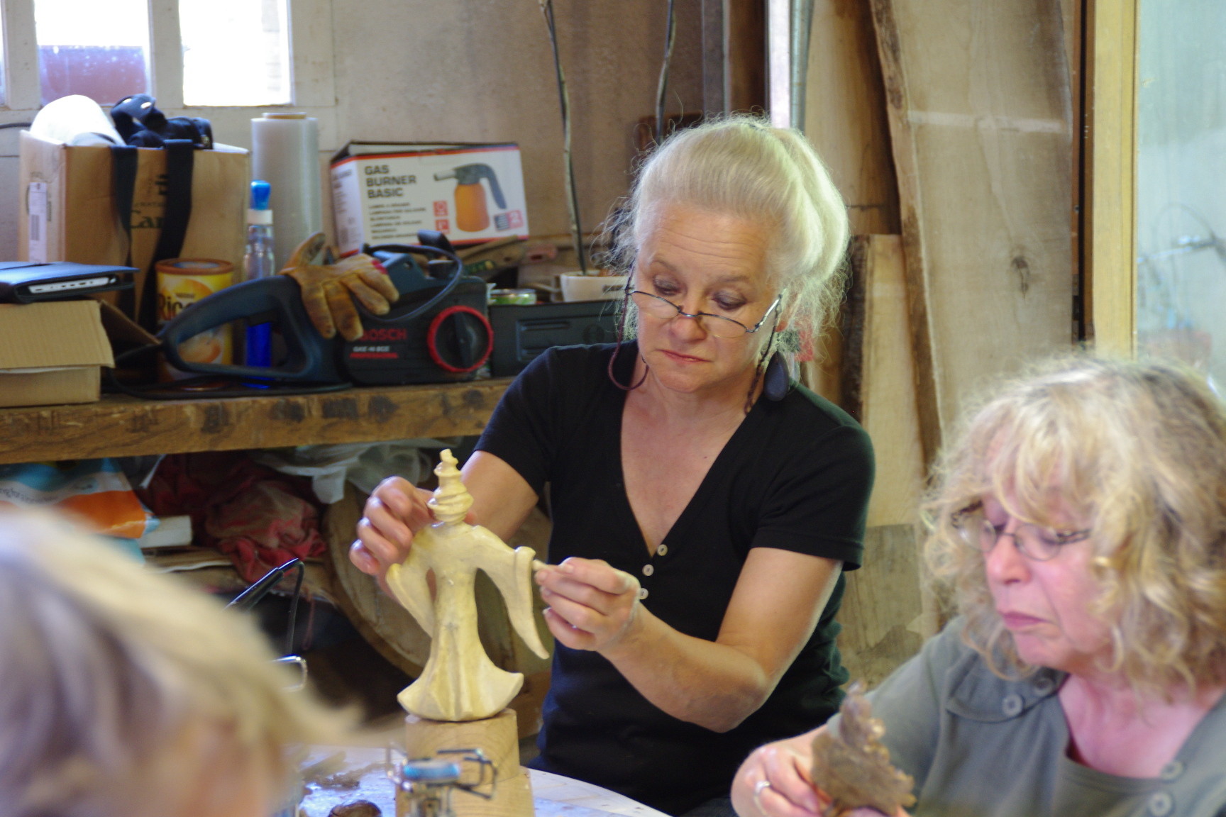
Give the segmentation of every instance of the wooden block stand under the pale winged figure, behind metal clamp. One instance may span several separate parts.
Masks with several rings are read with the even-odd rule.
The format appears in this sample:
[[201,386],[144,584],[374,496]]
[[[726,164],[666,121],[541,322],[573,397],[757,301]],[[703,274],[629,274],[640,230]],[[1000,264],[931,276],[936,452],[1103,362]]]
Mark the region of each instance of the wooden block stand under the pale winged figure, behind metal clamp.
[[[514,709],[503,709],[493,718],[482,720],[405,718],[405,757],[434,757],[439,750],[449,748],[479,748],[495,769],[497,786],[492,800],[466,791],[451,794],[451,810],[456,817],[532,817],[532,784],[520,766]],[[400,800],[397,796],[396,815],[405,817]]]

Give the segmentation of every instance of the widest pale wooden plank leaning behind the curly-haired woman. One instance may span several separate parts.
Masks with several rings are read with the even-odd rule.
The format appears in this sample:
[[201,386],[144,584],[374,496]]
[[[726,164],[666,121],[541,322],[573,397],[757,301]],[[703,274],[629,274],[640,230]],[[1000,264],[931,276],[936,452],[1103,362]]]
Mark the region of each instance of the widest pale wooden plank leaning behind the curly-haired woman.
[[924,457],[967,401],[1072,348],[1073,121],[1058,0],[872,0]]

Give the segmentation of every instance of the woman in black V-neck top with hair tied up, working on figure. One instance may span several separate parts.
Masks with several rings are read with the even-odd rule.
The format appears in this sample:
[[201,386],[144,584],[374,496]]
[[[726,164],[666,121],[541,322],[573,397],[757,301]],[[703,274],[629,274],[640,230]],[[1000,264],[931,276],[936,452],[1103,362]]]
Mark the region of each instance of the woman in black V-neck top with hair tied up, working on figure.
[[[753,118],[672,136],[625,213],[626,337],[536,359],[465,483],[504,539],[549,486],[557,650],[532,766],[729,812],[744,756],[825,721],[847,677],[834,616],[872,451],[782,354],[839,300],[847,219],[803,135]],[[427,496],[381,484],[354,563],[403,560]]]

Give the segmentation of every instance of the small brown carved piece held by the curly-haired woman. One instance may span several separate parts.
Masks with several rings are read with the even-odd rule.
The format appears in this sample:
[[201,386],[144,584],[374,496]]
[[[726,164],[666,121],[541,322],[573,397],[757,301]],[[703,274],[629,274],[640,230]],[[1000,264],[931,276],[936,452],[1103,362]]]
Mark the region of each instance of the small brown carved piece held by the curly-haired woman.
[[915,781],[890,764],[890,750],[878,740],[885,726],[872,717],[873,708],[859,682],[847,691],[839,712],[837,731],[826,729],[813,739],[812,779],[830,795],[830,813],[867,806],[895,815],[900,806],[913,805]]

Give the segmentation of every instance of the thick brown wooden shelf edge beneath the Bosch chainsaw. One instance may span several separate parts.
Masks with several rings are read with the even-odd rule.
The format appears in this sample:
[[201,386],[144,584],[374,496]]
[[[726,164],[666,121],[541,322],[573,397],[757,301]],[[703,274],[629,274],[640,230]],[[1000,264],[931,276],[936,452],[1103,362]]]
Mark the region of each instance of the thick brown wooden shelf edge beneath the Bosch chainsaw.
[[0,464],[476,435],[510,382],[0,409]]

